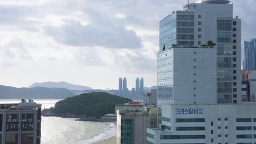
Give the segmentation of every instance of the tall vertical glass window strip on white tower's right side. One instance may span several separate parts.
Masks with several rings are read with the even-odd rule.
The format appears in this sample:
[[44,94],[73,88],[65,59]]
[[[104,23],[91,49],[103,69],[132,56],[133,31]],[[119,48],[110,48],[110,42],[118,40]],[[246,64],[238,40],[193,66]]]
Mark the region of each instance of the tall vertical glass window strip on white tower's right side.
[[217,20],[217,100],[232,103],[232,18]]

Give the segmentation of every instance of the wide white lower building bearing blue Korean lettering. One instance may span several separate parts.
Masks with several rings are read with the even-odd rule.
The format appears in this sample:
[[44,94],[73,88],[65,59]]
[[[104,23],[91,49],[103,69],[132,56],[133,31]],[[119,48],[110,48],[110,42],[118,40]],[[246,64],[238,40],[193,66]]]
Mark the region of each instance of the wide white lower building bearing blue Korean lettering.
[[148,143],[256,142],[255,104],[162,104],[162,109],[162,124],[171,128],[147,129]]

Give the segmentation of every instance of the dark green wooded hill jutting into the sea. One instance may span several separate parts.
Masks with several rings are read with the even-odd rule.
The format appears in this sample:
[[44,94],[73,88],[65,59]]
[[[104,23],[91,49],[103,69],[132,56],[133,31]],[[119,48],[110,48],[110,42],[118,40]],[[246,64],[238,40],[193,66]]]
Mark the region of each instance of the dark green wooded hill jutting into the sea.
[[106,92],[83,93],[57,102],[51,109],[44,109],[43,116],[77,117],[83,121],[97,121],[107,114],[115,113],[116,104],[132,101]]

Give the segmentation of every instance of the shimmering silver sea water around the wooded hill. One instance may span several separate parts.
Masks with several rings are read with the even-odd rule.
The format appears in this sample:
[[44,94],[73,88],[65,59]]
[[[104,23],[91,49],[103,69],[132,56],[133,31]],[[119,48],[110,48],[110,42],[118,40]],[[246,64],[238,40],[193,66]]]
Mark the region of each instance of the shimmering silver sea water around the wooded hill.
[[[42,109],[54,106],[59,99],[35,99]],[[20,103],[19,99],[0,99],[0,103]],[[114,123],[75,121],[75,118],[42,117],[42,144],[87,144],[116,135]]]

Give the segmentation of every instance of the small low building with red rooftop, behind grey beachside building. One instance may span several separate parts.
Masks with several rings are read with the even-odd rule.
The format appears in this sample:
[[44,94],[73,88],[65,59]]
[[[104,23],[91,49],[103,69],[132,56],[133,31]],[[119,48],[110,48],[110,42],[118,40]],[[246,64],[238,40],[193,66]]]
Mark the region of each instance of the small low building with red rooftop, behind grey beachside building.
[[117,115],[117,111],[143,111],[143,105],[139,103],[139,101],[130,101],[129,103],[125,103],[122,105],[115,105],[115,115]]

